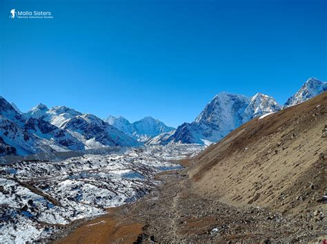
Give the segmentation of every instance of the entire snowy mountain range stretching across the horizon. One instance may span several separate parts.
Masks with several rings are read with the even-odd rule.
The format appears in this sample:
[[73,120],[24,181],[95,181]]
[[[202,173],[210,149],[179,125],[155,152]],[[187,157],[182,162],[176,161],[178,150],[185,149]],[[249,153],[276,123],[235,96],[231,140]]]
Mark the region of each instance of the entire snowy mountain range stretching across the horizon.
[[[326,82],[310,78],[284,107],[306,101],[326,90]],[[22,113],[14,103],[10,104],[0,96],[0,156],[142,143],[209,145],[254,117],[277,112],[284,107],[273,97],[261,93],[246,97],[221,92],[206,105],[194,122],[183,123],[175,130],[151,117],[134,123],[120,116],[109,116],[103,121],[95,115],[82,114],[72,108],[48,108],[41,103]]]

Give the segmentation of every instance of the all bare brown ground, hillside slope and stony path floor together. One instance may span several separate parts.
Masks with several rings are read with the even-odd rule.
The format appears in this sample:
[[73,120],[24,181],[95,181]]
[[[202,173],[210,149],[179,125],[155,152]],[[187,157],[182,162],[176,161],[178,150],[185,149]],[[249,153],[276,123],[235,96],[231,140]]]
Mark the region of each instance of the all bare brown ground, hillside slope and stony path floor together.
[[211,145],[140,201],[67,228],[58,243],[321,243],[327,234],[327,92]]

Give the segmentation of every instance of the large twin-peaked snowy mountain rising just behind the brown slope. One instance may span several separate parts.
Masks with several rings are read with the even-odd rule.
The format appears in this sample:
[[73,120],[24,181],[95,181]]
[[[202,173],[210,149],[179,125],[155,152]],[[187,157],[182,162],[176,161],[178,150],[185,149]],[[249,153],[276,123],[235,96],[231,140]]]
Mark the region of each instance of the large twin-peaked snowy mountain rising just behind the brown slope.
[[255,94],[246,97],[238,94],[221,92],[217,94],[192,123],[183,123],[171,136],[161,136],[161,144],[169,142],[199,143],[210,145],[221,140],[226,134],[261,116],[281,110],[271,96]]

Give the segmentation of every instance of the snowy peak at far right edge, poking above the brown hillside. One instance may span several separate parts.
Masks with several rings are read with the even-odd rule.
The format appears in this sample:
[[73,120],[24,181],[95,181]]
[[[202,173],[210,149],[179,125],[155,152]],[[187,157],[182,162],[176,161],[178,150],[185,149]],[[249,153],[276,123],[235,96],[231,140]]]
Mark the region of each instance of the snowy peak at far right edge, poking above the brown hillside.
[[296,105],[297,103],[302,103],[313,98],[313,96],[317,96],[326,91],[327,82],[319,81],[316,78],[310,78],[308,81],[306,81],[306,83],[304,83],[304,85],[302,85],[301,89],[297,93],[290,96],[284,105],[285,107]]

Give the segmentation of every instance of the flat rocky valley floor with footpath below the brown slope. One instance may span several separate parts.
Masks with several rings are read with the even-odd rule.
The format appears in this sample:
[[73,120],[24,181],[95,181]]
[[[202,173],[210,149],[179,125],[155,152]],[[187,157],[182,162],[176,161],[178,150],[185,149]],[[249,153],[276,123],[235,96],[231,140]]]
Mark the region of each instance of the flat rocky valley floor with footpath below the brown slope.
[[287,243],[319,242],[319,236],[326,235],[324,221],[307,222],[260,207],[233,207],[217,197],[204,198],[192,190],[184,170],[157,177],[164,185],[155,192],[76,224],[55,243]]

